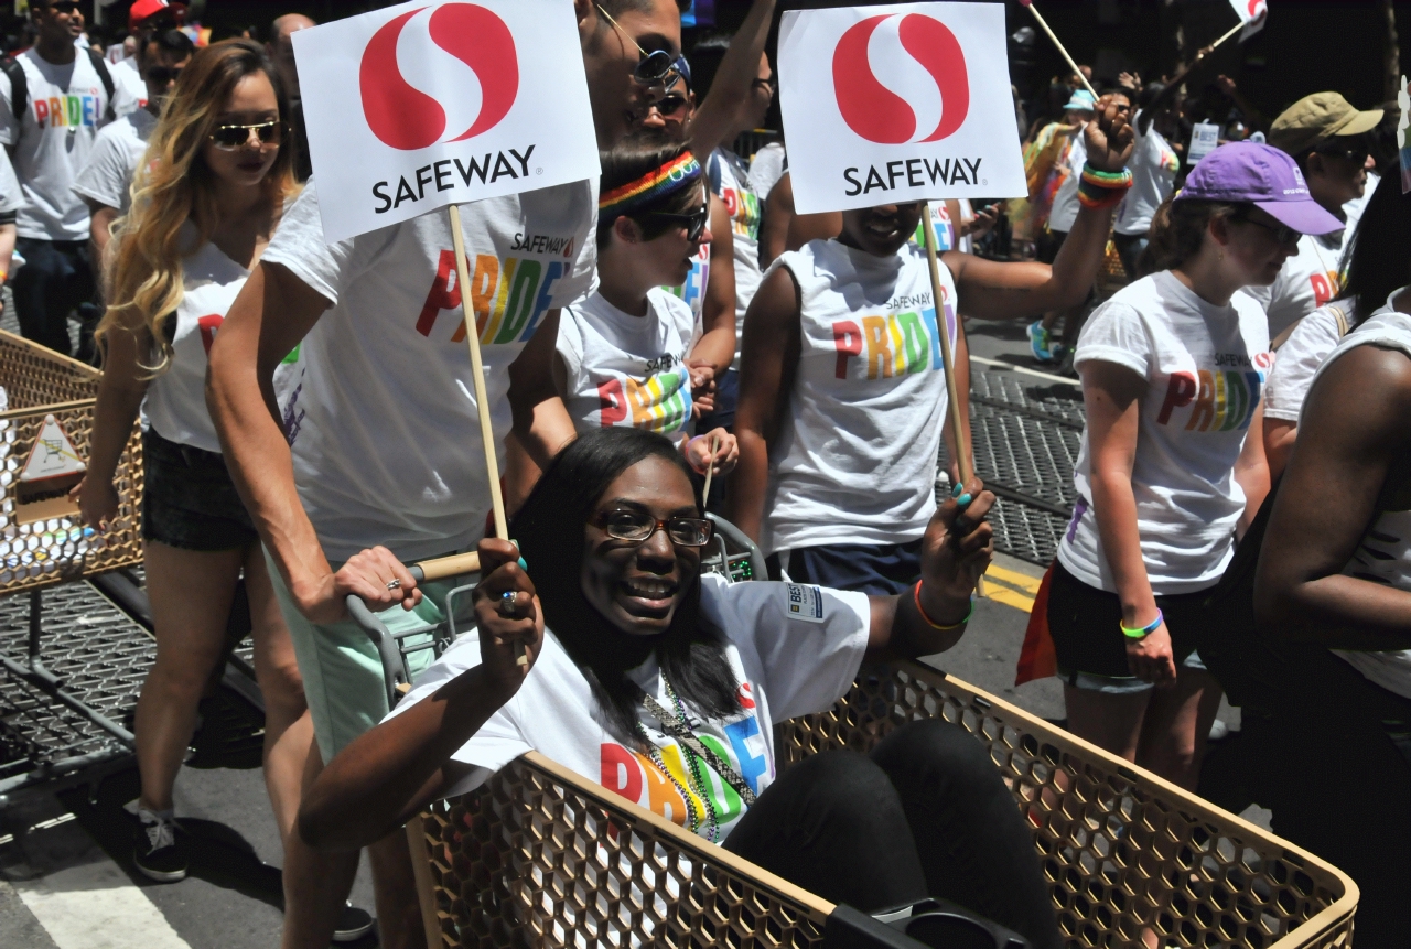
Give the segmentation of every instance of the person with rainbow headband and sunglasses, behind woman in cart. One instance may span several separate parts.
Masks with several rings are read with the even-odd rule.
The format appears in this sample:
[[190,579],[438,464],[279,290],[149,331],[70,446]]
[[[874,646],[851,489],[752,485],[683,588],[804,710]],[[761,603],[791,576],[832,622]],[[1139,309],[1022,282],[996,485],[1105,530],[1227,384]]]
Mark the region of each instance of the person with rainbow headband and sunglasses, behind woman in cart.
[[711,241],[696,155],[665,134],[635,135],[601,157],[598,289],[563,310],[509,369],[515,436],[543,468],[576,434],[631,426],[665,434],[697,474],[735,467],[735,436],[694,439],[696,379],[686,360],[696,317],[679,286]]

